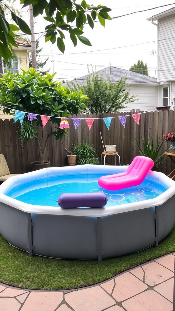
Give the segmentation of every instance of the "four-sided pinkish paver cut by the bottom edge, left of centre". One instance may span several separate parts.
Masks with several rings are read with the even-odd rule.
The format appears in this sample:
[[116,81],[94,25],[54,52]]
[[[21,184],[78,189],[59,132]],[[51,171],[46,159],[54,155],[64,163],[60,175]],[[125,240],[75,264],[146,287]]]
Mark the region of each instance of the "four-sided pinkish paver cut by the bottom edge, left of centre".
[[20,311],[54,311],[62,300],[62,292],[31,292]]

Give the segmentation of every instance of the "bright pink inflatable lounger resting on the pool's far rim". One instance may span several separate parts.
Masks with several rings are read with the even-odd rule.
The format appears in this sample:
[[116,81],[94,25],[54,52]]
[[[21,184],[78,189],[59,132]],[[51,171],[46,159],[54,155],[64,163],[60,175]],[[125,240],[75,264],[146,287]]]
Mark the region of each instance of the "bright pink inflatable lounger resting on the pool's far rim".
[[153,166],[152,159],[136,156],[125,172],[102,176],[98,179],[98,185],[114,191],[140,185]]

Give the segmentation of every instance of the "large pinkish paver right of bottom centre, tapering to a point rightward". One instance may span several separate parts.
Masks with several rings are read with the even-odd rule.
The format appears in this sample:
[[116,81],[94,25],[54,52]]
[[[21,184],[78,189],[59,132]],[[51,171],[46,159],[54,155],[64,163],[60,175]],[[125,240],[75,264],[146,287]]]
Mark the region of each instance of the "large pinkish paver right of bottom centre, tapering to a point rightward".
[[126,272],[115,278],[116,285],[112,296],[117,301],[123,301],[134,295],[146,290],[148,286],[133,276],[130,272]]

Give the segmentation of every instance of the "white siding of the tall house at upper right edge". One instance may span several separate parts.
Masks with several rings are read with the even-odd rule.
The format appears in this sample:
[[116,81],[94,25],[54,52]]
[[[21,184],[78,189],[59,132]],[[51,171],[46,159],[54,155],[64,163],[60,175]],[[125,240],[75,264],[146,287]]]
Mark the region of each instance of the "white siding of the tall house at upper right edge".
[[158,21],[158,82],[175,81],[175,14]]

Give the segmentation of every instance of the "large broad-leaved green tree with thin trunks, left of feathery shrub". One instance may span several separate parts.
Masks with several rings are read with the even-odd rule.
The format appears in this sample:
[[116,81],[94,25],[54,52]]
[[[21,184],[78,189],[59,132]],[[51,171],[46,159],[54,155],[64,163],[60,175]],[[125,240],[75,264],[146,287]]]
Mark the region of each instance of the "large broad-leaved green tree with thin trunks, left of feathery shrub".
[[[82,91],[71,93],[61,82],[53,80],[55,74],[46,72],[46,76],[42,76],[42,73],[30,68],[28,71],[22,70],[21,74],[7,72],[0,78],[0,104],[5,107],[3,112],[26,112],[18,136],[22,140],[36,141],[39,155],[37,165],[45,164],[45,150],[50,136],[53,135],[57,140],[64,134],[68,135],[65,127],[59,128],[61,118],[80,113],[86,107],[83,101],[88,99]],[[30,121],[28,114],[36,117]],[[40,146],[37,131],[39,126],[43,126],[41,116],[49,116],[48,122],[55,125],[55,131],[48,134],[43,148]]]

